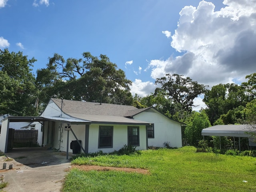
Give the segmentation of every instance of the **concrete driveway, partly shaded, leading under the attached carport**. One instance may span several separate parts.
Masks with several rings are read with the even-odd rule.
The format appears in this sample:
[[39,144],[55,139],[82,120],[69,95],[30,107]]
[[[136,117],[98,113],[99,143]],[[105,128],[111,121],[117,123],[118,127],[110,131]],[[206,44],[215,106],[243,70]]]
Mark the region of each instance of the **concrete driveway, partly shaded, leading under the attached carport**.
[[[71,166],[66,153],[40,147],[14,148],[6,156],[0,156],[0,175],[8,182],[6,192],[60,192],[65,170]],[[6,169],[3,169],[4,163]]]

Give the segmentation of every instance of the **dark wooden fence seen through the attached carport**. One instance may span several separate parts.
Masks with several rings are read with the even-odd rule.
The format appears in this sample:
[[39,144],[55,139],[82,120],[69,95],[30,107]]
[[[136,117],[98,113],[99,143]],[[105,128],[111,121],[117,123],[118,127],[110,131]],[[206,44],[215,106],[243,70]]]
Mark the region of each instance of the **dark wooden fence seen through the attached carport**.
[[38,130],[14,130],[14,143],[36,143]]

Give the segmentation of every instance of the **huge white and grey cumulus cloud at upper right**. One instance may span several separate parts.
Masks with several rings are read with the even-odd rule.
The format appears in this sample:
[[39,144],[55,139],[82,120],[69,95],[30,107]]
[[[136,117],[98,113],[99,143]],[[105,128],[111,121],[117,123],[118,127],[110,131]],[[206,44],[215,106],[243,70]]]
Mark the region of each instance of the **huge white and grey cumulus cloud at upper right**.
[[223,4],[215,11],[213,3],[201,1],[180,11],[171,36],[171,46],[180,56],[151,60],[153,79],[177,73],[211,87],[237,82],[256,71],[256,0]]

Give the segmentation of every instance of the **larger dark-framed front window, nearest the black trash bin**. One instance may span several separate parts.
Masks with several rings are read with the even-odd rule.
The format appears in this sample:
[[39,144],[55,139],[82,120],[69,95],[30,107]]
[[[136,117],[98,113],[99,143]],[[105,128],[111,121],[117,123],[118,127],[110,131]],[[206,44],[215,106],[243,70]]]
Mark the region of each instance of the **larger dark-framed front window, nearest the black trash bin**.
[[113,126],[100,126],[98,148],[113,147]]

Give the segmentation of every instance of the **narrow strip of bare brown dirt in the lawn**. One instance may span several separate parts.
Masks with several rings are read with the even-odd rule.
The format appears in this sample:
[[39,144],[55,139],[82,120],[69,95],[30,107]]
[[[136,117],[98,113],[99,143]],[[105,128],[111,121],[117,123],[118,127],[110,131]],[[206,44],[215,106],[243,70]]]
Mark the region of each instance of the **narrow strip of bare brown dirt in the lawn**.
[[149,174],[149,170],[146,169],[134,169],[134,168],[122,168],[122,167],[104,167],[104,166],[96,166],[96,165],[72,165],[72,168],[78,168],[83,171],[90,171],[90,170],[96,170],[96,171],[125,171],[125,172],[135,172],[135,173],[141,173],[141,174]]

